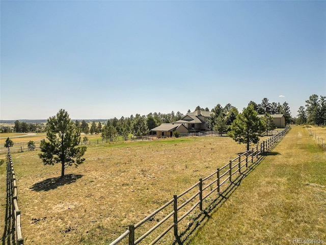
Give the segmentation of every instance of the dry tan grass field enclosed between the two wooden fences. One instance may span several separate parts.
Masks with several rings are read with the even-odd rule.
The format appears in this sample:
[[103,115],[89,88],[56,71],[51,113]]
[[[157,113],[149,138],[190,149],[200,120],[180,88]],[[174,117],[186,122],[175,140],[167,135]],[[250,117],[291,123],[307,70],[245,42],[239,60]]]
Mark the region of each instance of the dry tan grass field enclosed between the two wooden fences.
[[38,152],[12,154],[24,244],[110,243],[245,147],[228,137],[91,145],[65,180]]

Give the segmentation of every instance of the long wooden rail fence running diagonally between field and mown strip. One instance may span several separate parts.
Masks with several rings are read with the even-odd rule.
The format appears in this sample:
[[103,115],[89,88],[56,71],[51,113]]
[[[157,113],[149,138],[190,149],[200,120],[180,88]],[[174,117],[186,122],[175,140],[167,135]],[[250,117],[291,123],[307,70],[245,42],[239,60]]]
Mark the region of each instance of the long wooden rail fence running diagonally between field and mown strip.
[[[257,161],[259,155],[271,150],[288,132],[290,128],[280,131],[276,135],[257,144],[250,151],[238,155],[237,158],[230,160],[224,166],[217,168],[214,173],[206,178],[199,179],[192,187],[183,191],[179,195],[173,195],[173,198],[162,205],[160,208],[149,214],[137,224],[131,224],[128,230],[120,235],[117,239],[110,243],[110,245],[118,244],[124,238],[128,237],[128,244],[135,245],[144,241],[153,231],[161,226],[158,236],[152,236],[152,240],[146,240],[146,244],[155,244],[162,239],[170,230],[173,229],[175,240],[179,239],[178,224],[186,216],[190,215],[197,207],[199,211],[203,212],[203,204],[216,199],[217,195],[222,195],[221,188],[224,186],[231,186],[232,180],[236,178],[235,175],[241,175],[251,164]],[[244,169],[246,168],[246,169]],[[211,196],[212,194],[215,196]],[[210,197],[211,196],[211,197]],[[208,200],[211,198],[211,200]],[[161,219],[157,218],[158,222],[154,226],[149,225],[149,229],[144,232],[137,232],[143,225],[150,223],[155,215],[160,214]],[[144,229],[143,229],[144,230]],[[155,237],[155,238],[154,238]],[[126,238],[127,239],[127,238]],[[126,241],[127,242],[127,241]]]

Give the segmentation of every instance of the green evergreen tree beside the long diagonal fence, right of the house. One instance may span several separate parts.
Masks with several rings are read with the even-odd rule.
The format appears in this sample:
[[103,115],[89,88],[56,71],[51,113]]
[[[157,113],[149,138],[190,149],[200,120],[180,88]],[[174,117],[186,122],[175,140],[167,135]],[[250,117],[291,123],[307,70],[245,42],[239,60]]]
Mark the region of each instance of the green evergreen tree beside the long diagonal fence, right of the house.
[[265,131],[265,125],[257,116],[252,105],[245,108],[242,113],[236,116],[231,125],[228,135],[239,143],[247,144],[247,151],[251,143],[258,143],[259,136]]

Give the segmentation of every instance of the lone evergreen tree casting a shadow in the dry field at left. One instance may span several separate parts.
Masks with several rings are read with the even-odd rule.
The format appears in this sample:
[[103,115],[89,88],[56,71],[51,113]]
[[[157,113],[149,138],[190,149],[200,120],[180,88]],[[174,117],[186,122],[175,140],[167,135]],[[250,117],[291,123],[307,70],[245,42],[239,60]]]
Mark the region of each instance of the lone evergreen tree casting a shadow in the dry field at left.
[[80,131],[64,109],[47,119],[46,137],[47,140],[41,141],[39,157],[44,164],[61,163],[61,178],[65,176],[67,166],[78,166],[85,161],[83,156],[87,148],[78,146]]

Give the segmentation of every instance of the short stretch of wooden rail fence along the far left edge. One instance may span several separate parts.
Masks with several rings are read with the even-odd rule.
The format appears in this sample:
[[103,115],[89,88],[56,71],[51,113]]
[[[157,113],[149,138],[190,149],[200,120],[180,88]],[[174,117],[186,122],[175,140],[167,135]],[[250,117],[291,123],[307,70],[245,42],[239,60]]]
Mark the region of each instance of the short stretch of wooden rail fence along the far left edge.
[[[20,223],[20,210],[18,208],[18,201],[17,201],[17,183],[16,183],[16,177],[14,172],[14,166],[11,159],[10,149],[8,148],[8,156],[7,156],[7,195],[9,194],[9,200],[7,200],[7,208],[10,210],[7,210],[8,212],[11,212],[11,219],[12,219],[12,228],[14,233],[14,244],[23,244],[24,239],[21,235],[21,223]],[[11,198],[11,200],[10,200]],[[10,208],[12,206],[12,208]],[[11,223],[11,222],[9,222]],[[7,229],[10,229],[10,227],[7,227]]]

